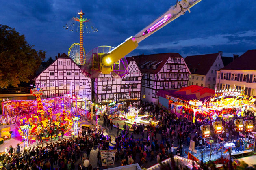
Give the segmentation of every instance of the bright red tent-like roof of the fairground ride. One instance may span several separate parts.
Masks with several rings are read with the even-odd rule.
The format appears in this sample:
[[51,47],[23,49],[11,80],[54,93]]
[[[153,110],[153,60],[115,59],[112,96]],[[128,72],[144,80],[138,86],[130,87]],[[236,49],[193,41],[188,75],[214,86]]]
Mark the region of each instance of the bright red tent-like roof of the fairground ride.
[[215,94],[213,89],[202,87],[198,85],[190,85],[174,90],[159,90],[156,95],[165,98],[165,95],[169,95],[182,100],[201,100],[211,98]]

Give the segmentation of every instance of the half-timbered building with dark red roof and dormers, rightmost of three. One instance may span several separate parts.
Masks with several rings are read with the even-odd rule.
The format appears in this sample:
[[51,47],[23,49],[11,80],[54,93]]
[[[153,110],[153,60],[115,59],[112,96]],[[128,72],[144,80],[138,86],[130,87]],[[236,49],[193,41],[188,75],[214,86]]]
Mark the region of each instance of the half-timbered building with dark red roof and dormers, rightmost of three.
[[161,53],[133,56],[143,78],[141,96],[143,100],[158,103],[156,93],[160,89],[177,89],[186,87],[189,69],[179,53]]

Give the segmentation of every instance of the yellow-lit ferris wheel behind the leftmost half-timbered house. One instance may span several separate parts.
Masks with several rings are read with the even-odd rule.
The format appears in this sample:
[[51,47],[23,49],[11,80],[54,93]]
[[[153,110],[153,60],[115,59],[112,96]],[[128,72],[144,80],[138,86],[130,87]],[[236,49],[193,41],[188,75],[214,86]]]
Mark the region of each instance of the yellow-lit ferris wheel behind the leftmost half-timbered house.
[[[76,64],[83,65],[85,63],[86,54],[85,49],[82,47],[82,58],[80,57],[80,44],[74,43],[70,46],[67,56],[69,56]],[[81,61],[82,59],[82,61]]]

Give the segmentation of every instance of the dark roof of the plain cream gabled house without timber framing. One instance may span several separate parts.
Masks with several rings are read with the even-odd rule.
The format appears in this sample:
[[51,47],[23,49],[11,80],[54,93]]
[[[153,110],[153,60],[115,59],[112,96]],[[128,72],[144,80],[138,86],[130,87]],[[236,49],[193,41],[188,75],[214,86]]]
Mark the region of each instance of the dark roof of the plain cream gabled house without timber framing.
[[191,74],[206,75],[215,62],[219,53],[191,55],[185,58],[185,62]]

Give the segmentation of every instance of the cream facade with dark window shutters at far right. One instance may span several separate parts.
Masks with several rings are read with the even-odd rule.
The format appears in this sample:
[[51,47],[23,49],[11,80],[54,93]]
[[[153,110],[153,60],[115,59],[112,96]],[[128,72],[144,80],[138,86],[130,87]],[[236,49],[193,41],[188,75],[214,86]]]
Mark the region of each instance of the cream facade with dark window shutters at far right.
[[256,95],[256,70],[220,70],[218,73],[218,90],[245,87],[245,95]]

